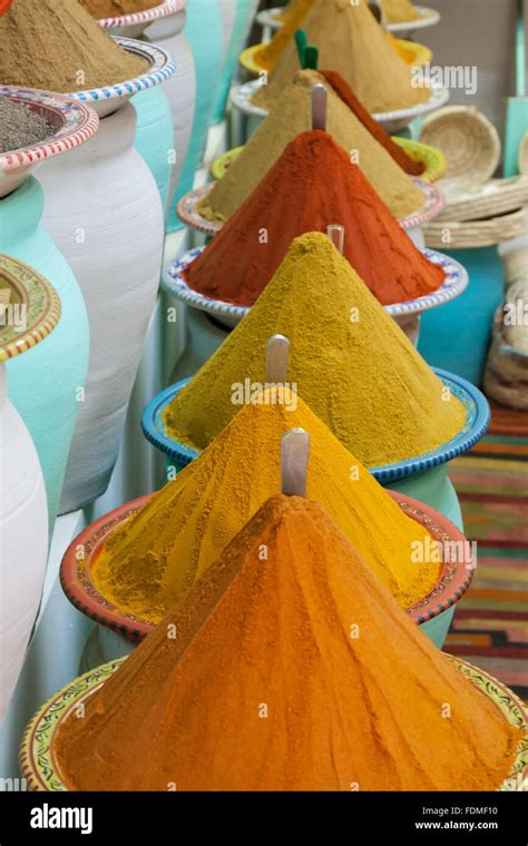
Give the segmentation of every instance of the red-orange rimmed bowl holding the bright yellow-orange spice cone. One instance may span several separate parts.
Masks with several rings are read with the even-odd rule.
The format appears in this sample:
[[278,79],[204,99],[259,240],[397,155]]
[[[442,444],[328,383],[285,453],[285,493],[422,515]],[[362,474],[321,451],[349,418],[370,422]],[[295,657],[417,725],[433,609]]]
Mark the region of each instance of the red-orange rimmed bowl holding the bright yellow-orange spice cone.
[[[456,602],[466,592],[477,562],[472,557],[471,544],[447,518],[409,496],[394,491],[388,491],[388,493],[408,517],[426,527],[444,549],[448,547],[443,544],[454,542],[457,547],[453,549],[461,550],[461,554],[456,555],[456,561],[443,562],[439,581],[433,590],[408,609],[417,626],[424,628],[428,633],[427,624],[453,609]],[[69,601],[91,620],[124,636],[133,643],[141,640],[154,628],[153,623],[123,611],[107,600],[94,584],[91,572],[109,534],[128,517],[138,512],[151,495],[133,500],[91,523],[67,549],[60,568],[60,582]],[[82,557],[79,555],[79,550],[82,550]],[[451,616],[452,611],[449,613],[449,620]],[[444,627],[443,637],[447,631],[448,627]]]

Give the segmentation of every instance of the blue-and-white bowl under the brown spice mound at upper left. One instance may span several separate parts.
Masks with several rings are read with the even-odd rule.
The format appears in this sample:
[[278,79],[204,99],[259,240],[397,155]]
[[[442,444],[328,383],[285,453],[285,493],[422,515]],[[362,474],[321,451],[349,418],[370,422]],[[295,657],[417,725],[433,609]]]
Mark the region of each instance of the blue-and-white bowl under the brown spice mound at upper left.
[[176,72],[176,59],[166,50],[148,41],[136,41],[131,38],[121,38],[115,36],[119,47],[137,56],[139,59],[146,59],[149,63],[148,71],[135,79],[128,79],[124,82],[116,82],[105,88],[90,88],[86,91],[74,91],[70,96],[80,102],[91,106],[100,118],[110,115],[123,106],[138,91],[145,91],[153,88],[166,79],[169,79]]

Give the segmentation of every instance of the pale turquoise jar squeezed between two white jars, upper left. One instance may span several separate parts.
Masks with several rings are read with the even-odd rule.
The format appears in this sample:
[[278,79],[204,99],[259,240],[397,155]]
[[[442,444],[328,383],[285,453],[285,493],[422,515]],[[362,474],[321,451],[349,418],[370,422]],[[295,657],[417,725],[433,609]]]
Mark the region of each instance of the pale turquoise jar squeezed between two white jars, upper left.
[[162,86],[136,94],[130,102],[137,111],[134,146],[148,165],[167,208],[168,190],[174,161],[169,155],[175,148],[173,112]]

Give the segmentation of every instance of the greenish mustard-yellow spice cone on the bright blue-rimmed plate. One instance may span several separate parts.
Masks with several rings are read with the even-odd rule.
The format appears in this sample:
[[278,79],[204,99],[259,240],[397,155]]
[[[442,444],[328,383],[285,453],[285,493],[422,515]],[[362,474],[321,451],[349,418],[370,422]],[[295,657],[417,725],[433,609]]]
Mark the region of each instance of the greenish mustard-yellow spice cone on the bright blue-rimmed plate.
[[292,344],[289,380],[366,466],[429,452],[463,429],[459,400],[330,239],[310,233],[292,242],[251,312],[169,404],[170,435],[211,443],[236,413],[232,385],[263,380],[275,334]]

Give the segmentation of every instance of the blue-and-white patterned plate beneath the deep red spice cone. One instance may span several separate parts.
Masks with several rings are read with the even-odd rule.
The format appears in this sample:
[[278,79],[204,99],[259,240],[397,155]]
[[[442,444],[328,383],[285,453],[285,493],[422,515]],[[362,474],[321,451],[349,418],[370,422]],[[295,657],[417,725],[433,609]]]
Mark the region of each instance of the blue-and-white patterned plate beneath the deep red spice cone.
[[[216,317],[224,324],[235,326],[247,314],[250,308],[242,305],[233,305],[233,303],[224,303],[222,299],[213,299],[212,297],[199,294],[197,291],[190,288],[183,276],[183,272],[186,267],[199,256],[205,247],[196,247],[185,253],[182,258],[173,262],[162,279],[163,287],[173,296],[180,299],[183,303],[199,308],[202,312],[206,312]],[[439,265],[446,272],[446,278],[441,287],[434,291],[432,294],[427,294],[415,299],[409,299],[407,303],[394,303],[392,305],[385,305],[383,308],[391,317],[401,317],[402,315],[420,314],[427,312],[430,308],[448,303],[450,299],[454,299],[461,294],[468,285],[468,274],[466,268],[454,258],[446,256],[443,253],[437,253],[434,249],[424,249],[423,254],[430,262]]]

